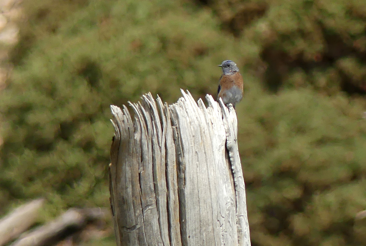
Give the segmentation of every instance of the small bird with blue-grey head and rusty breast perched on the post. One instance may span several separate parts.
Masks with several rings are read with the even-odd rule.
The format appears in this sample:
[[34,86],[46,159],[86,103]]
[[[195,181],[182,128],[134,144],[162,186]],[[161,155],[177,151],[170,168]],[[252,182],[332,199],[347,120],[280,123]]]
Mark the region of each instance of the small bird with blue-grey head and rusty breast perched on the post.
[[217,88],[217,101],[221,98],[225,105],[231,103],[235,108],[236,103],[243,99],[243,77],[234,61],[225,60],[218,66],[223,69],[223,75],[220,77]]

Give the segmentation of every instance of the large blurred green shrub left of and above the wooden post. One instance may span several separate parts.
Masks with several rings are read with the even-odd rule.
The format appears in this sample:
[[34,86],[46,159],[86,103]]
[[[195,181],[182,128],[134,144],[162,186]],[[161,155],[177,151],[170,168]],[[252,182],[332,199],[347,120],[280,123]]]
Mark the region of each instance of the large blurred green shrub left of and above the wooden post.
[[26,3],[30,21],[20,23],[14,73],[1,92],[2,209],[38,196],[57,208],[107,206],[109,105],[148,91],[170,103],[179,88],[214,94],[217,64],[240,57],[239,41],[224,38],[207,10],[170,1],[56,2]]

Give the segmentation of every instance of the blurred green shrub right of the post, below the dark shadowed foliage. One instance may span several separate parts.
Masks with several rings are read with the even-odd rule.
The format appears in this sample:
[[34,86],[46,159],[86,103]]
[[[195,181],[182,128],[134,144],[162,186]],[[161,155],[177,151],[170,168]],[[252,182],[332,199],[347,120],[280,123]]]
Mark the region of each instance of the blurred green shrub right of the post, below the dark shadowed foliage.
[[[366,207],[366,122],[344,95],[311,90],[238,105],[251,239],[258,245],[353,245]],[[332,239],[333,240],[333,239]]]

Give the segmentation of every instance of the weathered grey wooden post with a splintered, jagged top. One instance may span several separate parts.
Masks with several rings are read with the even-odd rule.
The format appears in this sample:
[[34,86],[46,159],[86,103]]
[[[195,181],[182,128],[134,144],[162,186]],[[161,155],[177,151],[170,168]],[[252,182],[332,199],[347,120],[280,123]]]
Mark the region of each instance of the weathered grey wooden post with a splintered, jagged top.
[[235,110],[182,91],[111,106],[109,188],[119,246],[249,246]]

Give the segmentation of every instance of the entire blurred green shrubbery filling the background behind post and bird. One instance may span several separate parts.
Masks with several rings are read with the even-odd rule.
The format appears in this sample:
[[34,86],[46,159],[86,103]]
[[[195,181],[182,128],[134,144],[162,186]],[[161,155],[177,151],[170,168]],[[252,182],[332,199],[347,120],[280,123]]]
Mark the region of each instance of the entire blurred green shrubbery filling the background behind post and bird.
[[[366,245],[366,1],[24,0],[1,91],[0,214],[109,206],[109,105],[216,95],[234,60],[253,246]],[[362,232],[365,233],[365,232]],[[113,236],[96,245],[114,245]]]

